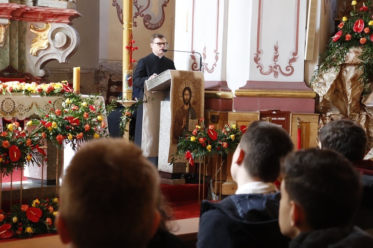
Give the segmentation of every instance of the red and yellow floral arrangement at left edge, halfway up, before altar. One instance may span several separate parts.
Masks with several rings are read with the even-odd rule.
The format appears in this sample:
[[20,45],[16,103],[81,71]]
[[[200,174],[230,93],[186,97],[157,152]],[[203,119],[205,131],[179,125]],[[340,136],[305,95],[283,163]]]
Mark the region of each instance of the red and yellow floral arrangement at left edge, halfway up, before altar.
[[39,125],[29,131],[31,126],[32,121],[29,121],[22,130],[20,123],[15,121],[4,127],[4,131],[0,133],[0,174],[9,175],[16,167],[40,164],[47,159],[44,147],[40,145],[45,138],[42,127]]

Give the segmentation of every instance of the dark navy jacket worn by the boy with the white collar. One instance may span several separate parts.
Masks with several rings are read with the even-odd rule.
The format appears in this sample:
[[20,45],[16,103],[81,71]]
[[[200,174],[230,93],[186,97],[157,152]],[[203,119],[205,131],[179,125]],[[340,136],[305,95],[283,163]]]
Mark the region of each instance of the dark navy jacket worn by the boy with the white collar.
[[280,193],[230,195],[203,201],[197,248],[282,248],[290,239],[278,226]]

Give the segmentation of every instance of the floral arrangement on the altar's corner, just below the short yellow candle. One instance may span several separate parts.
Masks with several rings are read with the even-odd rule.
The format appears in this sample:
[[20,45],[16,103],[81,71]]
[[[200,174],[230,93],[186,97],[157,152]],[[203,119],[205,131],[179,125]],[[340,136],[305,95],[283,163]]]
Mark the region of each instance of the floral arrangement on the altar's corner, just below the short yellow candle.
[[33,120],[42,124],[48,140],[60,148],[69,144],[76,151],[82,141],[109,135],[104,119],[115,108],[114,102],[105,106],[97,96],[85,98],[72,93],[70,87],[66,87],[63,96],[66,100],[62,109],[50,108],[48,112],[39,109],[40,120]]

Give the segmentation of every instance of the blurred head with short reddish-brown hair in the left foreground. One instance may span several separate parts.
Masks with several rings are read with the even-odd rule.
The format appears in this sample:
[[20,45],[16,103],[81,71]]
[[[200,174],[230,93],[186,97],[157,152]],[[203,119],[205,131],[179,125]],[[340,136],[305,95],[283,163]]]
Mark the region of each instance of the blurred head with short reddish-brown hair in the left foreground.
[[59,191],[62,243],[145,248],[158,228],[159,176],[134,144],[100,139],[80,147]]

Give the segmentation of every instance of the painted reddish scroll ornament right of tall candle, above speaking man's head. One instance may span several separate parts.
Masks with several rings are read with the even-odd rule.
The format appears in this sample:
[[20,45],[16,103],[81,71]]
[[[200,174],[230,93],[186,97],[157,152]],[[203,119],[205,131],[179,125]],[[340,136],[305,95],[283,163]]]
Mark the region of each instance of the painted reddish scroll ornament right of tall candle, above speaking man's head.
[[[146,14],[144,15],[144,11],[146,11],[149,6],[150,6],[150,1],[151,0],[148,0],[148,3],[146,5],[146,7],[144,8],[144,5],[141,5],[138,0],[134,0],[134,6],[136,7],[137,9],[137,12],[134,13],[134,27],[137,27],[137,22],[135,21],[135,19],[137,17],[142,17],[142,22],[144,23],[144,27],[148,30],[156,30],[158,28],[160,28],[163,23],[164,23],[164,20],[165,20],[165,14],[164,14],[164,8],[167,7],[167,3],[170,1],[170,0],[165,0],[162,5],[160,6],[162,8],[162,10],[160,11],[162,14],[161,14],[161,17],[159,19],[159,21],[155,22],[155,23],[152,23],[151,20],[152,20],[152,16],[149,15],[149,14]],[[158,6],[159,8],[159,6]],[[148,10],[150,11],[150,10]],[[153,12],[152,12],[153,13]]]

